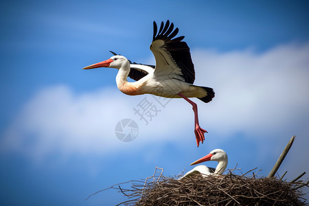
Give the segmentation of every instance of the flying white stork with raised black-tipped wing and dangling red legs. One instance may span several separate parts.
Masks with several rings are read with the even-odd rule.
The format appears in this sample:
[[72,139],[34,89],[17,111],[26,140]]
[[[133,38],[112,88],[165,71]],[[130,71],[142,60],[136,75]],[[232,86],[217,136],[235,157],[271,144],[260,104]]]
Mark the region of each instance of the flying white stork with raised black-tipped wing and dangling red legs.
[[[156,66],[141,65],[130,62],[127,58],[115,55],[84,69],[98,67],[111,67],[118,69],[116,76],[117,87],[127,95],[142,95],[150,93],[164,98],[183,98],[190,104],[194,111],[196,144],[205,140],[206,130],[198,123],[197,105],[188,98],[198,98],[207,103],[214,98],[214,90],[209,87],[193,85],[195,79],[194,65],[192,63],[190,48],[183,38],[174,38],[179,29],[174,30],[174,24],[167,21],[161,22],[159,32],[157,23],[153,23],[153,39],[150,45],[151,52],[155,55]],[[113,53],[113,52],[112,52]],[[113,53],[115,54],[115,53]],[[136,82],[128,82],[130,77]]]

